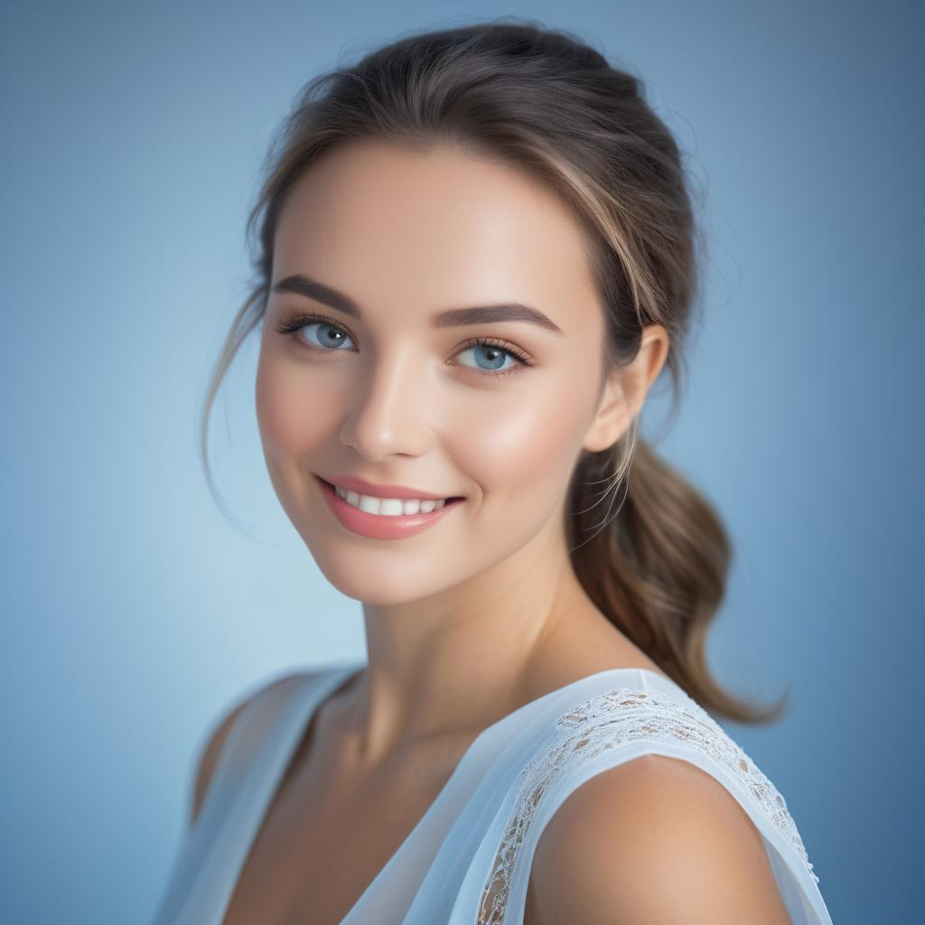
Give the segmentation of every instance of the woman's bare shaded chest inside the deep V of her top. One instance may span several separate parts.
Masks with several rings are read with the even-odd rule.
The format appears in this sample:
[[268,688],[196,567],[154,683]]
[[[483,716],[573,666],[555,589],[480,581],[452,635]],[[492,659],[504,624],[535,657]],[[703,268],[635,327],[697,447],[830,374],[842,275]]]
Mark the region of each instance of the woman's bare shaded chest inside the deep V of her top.
[[376,780],[309,768],[288,774],[222,925],[339,925],[437,799],[451,760],[405,759]]

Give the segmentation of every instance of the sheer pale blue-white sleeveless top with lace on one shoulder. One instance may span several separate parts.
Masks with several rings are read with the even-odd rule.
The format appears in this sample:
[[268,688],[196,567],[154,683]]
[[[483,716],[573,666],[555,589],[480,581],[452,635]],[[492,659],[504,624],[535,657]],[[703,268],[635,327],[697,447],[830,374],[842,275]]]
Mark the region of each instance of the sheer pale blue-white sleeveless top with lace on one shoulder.
[[[263,694],[241,711],[152,925],[221,925],[314,709],[363,668],[336,665],[278,685],[269,724],[257,722]],[[340,925],[521,925],[553,813],[595,774],[641,755],[685,759],[722,783],[758,828],[794,925],[832,925],[783,796],[681,687],[638,668],[565,685],[478,734]]]

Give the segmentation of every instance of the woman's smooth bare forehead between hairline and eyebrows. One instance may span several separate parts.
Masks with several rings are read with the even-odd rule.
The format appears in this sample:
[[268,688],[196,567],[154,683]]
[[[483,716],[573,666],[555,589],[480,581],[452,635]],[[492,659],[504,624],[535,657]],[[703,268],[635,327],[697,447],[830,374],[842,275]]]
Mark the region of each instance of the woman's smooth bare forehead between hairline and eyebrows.
[[516,299],[563,328],[595,299],[584,236],[554,193],[512,166],[393,142],[332,150],[294,184],[274,281],[298,272],[392,309]]

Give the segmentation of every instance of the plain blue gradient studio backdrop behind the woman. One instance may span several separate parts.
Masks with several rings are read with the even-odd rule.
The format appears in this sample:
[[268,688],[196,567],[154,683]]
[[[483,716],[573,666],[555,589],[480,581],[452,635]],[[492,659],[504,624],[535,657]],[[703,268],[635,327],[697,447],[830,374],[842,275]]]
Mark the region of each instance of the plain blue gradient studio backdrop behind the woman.
[[913,919],[919,14],[561,11],[3,5],[3,921],[148,921],[220,712],[278,672],[363,656],[360,605],[327,585],[266,474],[256,339],[211,443],[242,528],[205,485],[200,405],[251,273],[260,162],[297,89],[407,31],[503,14],[575,31],[641,76],[705,190],[705,325],[658,447],[734,539],[715,673],[794,700],[776,726],[727,729],[786,796],[833,919]]

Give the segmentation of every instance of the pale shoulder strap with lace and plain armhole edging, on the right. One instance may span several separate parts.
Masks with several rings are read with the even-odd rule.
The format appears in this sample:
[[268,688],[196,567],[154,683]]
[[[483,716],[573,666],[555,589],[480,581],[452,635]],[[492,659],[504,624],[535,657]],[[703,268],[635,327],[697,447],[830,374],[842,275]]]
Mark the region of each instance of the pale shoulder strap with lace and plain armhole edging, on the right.
[[800,920],[831,921],[816,887],[819,878],[773,783],[692,697],[680,689],[672,696],[635,686],[605,691],[563,713],[549,744],[524,766],[483,887],[478,920],[501,921],[494,917],[503,915],[509,894],[523,900],[539,835],[575,788],[600,771],[647,754],[685,759],[720,781],[789,866],[802,869],[800,879],[811,882],[805,889],[818,897],[820,918]]

